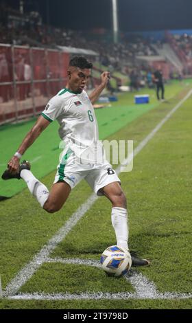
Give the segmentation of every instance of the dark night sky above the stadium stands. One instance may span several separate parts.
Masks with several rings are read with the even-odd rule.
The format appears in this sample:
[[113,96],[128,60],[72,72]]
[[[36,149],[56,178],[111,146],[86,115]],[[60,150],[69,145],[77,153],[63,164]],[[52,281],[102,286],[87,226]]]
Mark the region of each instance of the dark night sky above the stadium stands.
[[[0,0],[19,8],[19,0]],[[110,0],[24,0],[25,10],[39,11],[43,23],[86,30],[109,29]],[[122,31],[192,29],[192,0],[119,0],[119,28]]]

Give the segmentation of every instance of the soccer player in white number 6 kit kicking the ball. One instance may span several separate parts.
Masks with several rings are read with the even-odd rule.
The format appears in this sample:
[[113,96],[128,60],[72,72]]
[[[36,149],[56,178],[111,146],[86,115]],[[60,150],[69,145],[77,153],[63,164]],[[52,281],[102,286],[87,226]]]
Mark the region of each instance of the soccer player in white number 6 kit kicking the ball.
[[[99,98],[109,79],[108,71],[104,71],[101,74],[100,85],[88,96],[84,87],[91,76],[92,67],[93,65],[82,56],[75,56],[70,60],[66,87],[49,100],[36,124],[8,162],[8,169],[3,172],[2,178],[23,179],[40,206],[49,213],[60,210],[71,189],[83,178],[86,179],[97,195],[105,195],[111,201],[111,219],[117,245],[128,249],[128,212],[120,179],[106,159],[95,162],[86,154],[87,151],[89,153],[90,147],[95,149],[99,142],[93,103]],[[34,177],[28,161],[23,161],[21,165],[19,163],[27,148],[53,120],[60,124],[59,134],[65,147],[49,192],[47,187]],[[132,254],[132,265],[148,264],[147,260]]]

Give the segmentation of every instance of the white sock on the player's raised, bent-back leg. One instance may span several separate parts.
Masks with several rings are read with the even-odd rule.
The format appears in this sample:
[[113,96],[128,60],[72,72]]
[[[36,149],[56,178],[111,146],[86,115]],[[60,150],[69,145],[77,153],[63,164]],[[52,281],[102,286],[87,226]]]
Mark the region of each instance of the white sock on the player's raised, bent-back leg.
[[21,170],[20,176],[27,183],[29,191],[34,195],[34,197],[36,197],[36,199],[40,203],[40,206],[43,208],[43,205],[49,197],[49,190],[47,190],[47,187],[43,183],[38,181],[38,179],[34,177],[30,170]]

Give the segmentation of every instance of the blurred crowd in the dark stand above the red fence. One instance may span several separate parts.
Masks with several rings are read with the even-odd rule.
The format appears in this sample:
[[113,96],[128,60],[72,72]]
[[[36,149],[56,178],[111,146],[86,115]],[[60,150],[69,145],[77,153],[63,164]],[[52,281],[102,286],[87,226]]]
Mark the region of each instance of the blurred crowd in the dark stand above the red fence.
[[95,38],[77,30],[69,30],[64,27],[43,25],[38,12],[20,14],[16,10],[0,8],[0,43],[13,45],[29,45],[33,47],[59,46],[92,49],[99,54],[102,65],[121,69],[122,60],[134,64],[136,56],[152,56],[156,52],[152,45],[142,38],[130,41],[121,39],[121,43],[113,44],[104,39]]

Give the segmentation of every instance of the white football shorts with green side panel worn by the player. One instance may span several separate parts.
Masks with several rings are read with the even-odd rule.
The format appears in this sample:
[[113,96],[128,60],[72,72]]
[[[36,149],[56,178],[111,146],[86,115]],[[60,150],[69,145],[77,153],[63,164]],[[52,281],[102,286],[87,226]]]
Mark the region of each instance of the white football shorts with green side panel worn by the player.
[[101,164],[84,164],[70,148],[64,149],[57,169],[53,183],[65,181],[74,188],[77,183],[85,179],[98,196],[103,195],[99,190],[104,186],[115,181],[121,183],[106,159]]

